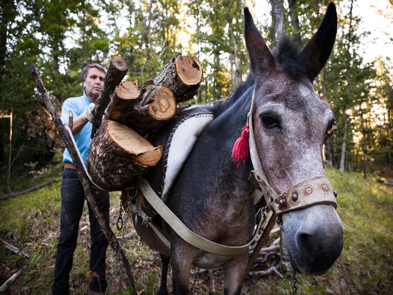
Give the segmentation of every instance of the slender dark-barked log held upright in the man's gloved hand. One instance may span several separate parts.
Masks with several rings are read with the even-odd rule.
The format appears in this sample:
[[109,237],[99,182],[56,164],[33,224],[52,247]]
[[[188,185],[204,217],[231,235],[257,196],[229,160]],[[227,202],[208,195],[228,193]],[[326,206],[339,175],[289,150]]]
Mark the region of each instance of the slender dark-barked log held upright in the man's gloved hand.
[[[100,96],[98,96],[95,104],[95,114],[96,117],[101,121],[104,115],[105,109],[111,101],[110,95],[123,80],[124,76],[127,74],[128,65],[127,62],[119,56],[113,56],[108,67],[108,71],[104,78],[104,88],[102,89]],[[93,126],[91,130],[91,138],[94,137],[96,129],[99,126]]]

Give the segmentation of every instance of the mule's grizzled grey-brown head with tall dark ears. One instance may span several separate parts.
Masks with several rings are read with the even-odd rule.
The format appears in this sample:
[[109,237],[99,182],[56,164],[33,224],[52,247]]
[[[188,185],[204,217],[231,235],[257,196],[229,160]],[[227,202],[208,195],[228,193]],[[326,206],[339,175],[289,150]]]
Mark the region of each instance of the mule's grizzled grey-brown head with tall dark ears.
[[[302,52],[283,44],[275,57],[247,8],[244,13],[246,47],[255,78],[256,149],[270,186],[280,194],[305,179],[325,175],[322,147],[335,118],[312,81],[333,48],[336,8],[329,4],[321,26]],[[325,273],[343,246],[344,228],[336,208],[311,204],[282,213],[281,218],[292,267],[305,274]]]

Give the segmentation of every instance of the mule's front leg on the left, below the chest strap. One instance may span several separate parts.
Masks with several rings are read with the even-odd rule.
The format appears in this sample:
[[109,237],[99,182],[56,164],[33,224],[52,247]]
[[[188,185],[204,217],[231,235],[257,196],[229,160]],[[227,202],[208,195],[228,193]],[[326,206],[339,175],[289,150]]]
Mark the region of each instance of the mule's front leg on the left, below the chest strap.
[[172,266],[173,278],[172,295],[188,294],[190,271],[194,261],[194,251],[190,246],[184,245],[184,243],[171,244],[170,248],[170,265]]

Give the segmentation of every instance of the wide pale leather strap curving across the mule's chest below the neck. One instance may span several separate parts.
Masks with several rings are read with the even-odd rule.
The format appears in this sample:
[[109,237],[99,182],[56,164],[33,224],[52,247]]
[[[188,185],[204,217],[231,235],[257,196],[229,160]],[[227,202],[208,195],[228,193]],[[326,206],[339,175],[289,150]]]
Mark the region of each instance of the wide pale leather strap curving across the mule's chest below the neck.
[[[184,239],[189,244],[206,252],[219,254],[219,255],[236,255],[236,254],[243,253],[249,248],[250,244],[253,242],[253,240],[256,237],[256,234],[258,233],[259,227],[261,226],[263,214],[261,214],[261,218],[258,222],[258,225],[254,231],[253,237],[250,240],[250,242],[242,246],[221,245],[216,242],[210,241],[204,238],[203,236],[199,236],[193,233],[179,218],[177,218],[177,216],[163,203],[163,201],[161,201],[161,199],[157,196],[154,190],[150,187],[147,180],[144,179],[143,177],[140,177],[139,187],[140,187],[140,191],[142,192],[146,200],[149,202],[149,204],[168,223],[168,225],[173,229],[173,231],[175,231],[177,235],[179,235],[182,239]],[[154,227],[152,227],[152,229],[155,232],[157,230]],[[159,237],[162,238],[161,236]]]

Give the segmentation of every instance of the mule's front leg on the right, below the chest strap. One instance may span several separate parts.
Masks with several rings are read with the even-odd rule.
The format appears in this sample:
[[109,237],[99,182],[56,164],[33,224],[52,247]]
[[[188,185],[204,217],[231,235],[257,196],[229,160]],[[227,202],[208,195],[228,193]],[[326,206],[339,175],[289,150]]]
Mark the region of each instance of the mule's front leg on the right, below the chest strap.
[[244,272],[248,261],[248,251],[224,264],[224,295],[240,295]]

